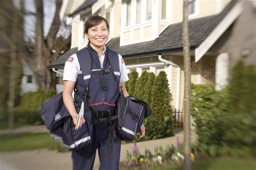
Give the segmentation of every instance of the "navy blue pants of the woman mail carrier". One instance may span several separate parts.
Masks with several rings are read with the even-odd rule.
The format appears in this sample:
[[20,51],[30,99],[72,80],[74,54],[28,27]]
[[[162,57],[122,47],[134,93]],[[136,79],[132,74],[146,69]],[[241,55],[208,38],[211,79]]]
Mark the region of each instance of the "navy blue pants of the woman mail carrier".
[[100,170],[119,169],[121,140],[112,138],[112,161],[108,159],[107,128],[93,128],[92,143],[79,151],[72,151],[73,169],[89,170],[93,168],[96,150],[98,148]]

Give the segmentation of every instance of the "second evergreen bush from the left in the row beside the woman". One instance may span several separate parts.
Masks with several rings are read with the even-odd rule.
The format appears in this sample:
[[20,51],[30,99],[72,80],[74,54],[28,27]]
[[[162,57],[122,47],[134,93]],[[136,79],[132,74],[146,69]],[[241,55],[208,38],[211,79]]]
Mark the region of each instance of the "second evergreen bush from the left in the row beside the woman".
[[147,83],[147,75],[148,75],[147,71],[144,70],[136,83],[136,88],[133,96],[139,98],[140,100],[145,100],[144,95],[145,95],[145,86]]

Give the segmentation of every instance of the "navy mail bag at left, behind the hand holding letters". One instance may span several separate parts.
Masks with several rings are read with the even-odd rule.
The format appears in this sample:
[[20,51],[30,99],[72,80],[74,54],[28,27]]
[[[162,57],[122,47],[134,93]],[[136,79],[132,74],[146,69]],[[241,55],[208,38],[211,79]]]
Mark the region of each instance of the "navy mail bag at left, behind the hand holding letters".
[[[75,103],[77,112],[79,104]],[[45,101],[40,109],[41,117],[50,130],[51,137],[70,150],[79,150],[91,143],[92,128],[87,123],[91,122],[91,112],[86,112],[86,122],[75,130],[72,117],[63,103],[63,95],[58,95]]]

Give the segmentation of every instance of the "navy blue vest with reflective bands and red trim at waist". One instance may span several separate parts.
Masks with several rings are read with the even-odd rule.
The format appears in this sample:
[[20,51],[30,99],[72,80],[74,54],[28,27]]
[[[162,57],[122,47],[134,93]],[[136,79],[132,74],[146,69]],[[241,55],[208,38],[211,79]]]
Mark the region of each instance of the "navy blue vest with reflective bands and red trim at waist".
[[[80,72],[77,76],[77,91],[75,96],[78,96],[77,98],[82,100],[85,84],[89,84],[87,89],[87,103],[92,110],[105,110],[115,107],[115,103],[119,96],[120,82],[118,54],[111,49],[106,48],[103,68],[100,66],[98,53],[90,45],[80,49],[76,54],[80,63]],[[100,74],[93,74],[93,71],[102,69],[112,70],[112,72],[103,74],[106,84],[105,89],[103,89],[103,82],[100,79]]]

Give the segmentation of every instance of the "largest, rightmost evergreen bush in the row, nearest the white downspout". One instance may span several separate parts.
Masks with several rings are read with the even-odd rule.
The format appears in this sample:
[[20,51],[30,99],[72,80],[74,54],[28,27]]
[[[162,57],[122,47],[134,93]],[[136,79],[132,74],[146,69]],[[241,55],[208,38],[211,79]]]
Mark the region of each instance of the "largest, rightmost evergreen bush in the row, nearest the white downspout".
[[145,120],[145,139],[157,139],[173,135],[171,93],[165,72],[160,72],[152,88],[152,114]]

